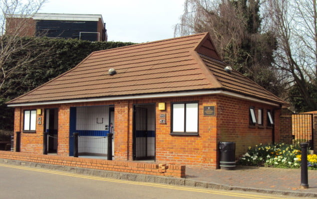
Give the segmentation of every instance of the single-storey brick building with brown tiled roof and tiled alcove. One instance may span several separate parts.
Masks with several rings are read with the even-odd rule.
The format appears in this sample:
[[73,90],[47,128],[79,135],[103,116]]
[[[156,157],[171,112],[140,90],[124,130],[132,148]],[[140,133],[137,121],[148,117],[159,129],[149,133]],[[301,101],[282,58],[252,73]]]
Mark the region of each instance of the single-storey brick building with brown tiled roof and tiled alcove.
[[73,132],[79,153],[105,154],[105,141],[96,138],[114,126],[115,160],[213,168],[219,141],[236,142],[236,156],[278,142],[283,104],[226,66],[209,33],[93,52],[8,102],[21,152],[41,154],[46,131],[57,155],[72,155]]

